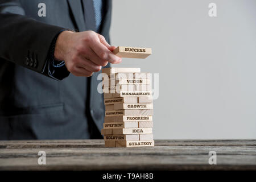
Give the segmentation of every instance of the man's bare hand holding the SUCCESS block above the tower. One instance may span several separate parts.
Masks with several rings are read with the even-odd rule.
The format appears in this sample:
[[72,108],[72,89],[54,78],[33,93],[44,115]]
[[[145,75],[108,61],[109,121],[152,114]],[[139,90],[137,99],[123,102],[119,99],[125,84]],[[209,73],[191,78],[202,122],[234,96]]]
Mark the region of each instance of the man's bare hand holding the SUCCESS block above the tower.
[[104,36],[93,31],[63,31],[57,38],[54,56],[65,60],[69,72],[75,76],[92,76],[109,63],[121,63],[122,59],[112,52]]

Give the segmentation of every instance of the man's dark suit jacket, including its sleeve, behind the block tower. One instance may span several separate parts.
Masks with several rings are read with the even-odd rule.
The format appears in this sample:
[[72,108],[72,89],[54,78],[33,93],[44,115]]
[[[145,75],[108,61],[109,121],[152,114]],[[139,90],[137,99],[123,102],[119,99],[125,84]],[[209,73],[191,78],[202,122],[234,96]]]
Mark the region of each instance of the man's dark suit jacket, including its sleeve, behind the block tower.
[[[46,17],[38,16],[42,2]],[[104,7],[100,34],[109,41],[111,1]],[[83,9],[80,0],[0,0],[0,139],[101,137],[99,72],[61,81],[47,77],[49,48],[63,28],[94,30],[93,4]]]

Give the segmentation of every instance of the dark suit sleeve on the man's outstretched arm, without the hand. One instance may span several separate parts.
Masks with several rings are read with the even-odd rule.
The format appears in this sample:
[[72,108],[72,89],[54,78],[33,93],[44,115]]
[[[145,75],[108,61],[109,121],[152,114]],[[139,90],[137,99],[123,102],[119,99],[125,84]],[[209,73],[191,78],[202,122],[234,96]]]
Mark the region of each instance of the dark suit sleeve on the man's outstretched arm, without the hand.
[[24,10],[18,3],[14,3],[16,1],[4,5],[1,2],[0,57],[49,76],[46,67],[51,44],[64,28],[38,22],[23,15]]

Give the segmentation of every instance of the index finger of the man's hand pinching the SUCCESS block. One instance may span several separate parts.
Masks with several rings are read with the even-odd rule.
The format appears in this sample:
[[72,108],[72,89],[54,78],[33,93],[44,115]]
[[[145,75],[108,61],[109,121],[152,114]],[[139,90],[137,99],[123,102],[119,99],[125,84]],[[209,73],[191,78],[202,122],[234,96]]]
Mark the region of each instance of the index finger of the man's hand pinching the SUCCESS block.
[[93,52],[96,53],[98,57],[100,57],[100,59],[108,60],[110,63],[113,64],[121,63],[122,59],[118,56],[115,56],[114,53],[105,46],[105,44],[101,43],[100,40],[96,40],[95,42],[93,42],[91,48]]

